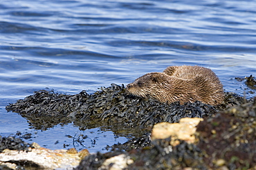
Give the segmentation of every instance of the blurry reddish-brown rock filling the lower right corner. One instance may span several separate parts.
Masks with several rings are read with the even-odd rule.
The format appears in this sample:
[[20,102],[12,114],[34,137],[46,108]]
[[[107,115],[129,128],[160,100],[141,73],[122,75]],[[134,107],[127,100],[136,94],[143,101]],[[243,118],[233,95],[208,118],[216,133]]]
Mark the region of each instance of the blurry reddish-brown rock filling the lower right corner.
[[256,164],[256,98],[216,116],[197,127],[199,148],[211,168],[255,168]]

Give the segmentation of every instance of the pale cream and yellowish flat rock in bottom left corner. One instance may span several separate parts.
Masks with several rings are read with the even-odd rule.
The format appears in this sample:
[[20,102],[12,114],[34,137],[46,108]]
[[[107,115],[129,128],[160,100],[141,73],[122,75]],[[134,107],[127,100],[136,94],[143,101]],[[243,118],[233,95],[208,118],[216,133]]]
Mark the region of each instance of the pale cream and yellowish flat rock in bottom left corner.
[[73,169],[89,155],[86,149],[77,153],[75,149],[51,150],[35,143],[33,146],[29,151],[3,150],[0,153],[0,169]]

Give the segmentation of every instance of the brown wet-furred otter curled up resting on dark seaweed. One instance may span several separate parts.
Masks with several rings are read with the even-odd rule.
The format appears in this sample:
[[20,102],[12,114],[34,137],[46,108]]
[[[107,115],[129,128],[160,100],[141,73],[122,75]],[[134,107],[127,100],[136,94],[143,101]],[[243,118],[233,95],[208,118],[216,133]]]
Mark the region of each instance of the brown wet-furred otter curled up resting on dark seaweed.
[[212,70],[200,66],[170,66],[163,72],[151,72],[127,85],[129,93],[154,98],[161,103],[179,101],[182,105],[196,100],[208,105],[223,102],[223,85]]

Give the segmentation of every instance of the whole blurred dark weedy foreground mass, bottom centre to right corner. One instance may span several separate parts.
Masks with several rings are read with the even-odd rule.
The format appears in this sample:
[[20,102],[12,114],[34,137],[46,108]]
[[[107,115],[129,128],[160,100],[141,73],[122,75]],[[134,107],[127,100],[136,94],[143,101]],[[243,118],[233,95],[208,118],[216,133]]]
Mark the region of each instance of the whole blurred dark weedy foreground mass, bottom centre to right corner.
[[201,121],[196,130],[196,144],[179,140],[180,144],[173,147],[171,138],[165,138],[127,151],[115,145],[118,149],[86,157],[76,169],[111,169],[118,164],[112,162],[106,167],[105,161],[118,156],[127,162],[124,169],[255,169],[255,117],[256,98]]

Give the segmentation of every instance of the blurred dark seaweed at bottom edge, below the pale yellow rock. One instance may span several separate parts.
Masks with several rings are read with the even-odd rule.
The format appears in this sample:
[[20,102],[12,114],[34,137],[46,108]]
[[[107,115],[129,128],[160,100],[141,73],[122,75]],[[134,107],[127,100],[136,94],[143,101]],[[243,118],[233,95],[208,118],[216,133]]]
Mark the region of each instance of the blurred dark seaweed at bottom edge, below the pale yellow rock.
[[115,165],[114,162],[108,167],[102,166],[102,164],[109,158],[117,156],[126,157],[127,164],[124,169],[183,169],[185,167],[206,169],[203,153],[196,145],[180,141],[180,145],[172,147],[170,138],[156,140],[152,148],[132,149],[129,152],[97,153],[84,158],[76,169],[111,169]]

